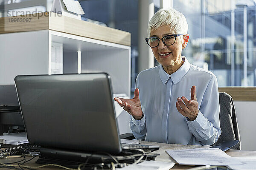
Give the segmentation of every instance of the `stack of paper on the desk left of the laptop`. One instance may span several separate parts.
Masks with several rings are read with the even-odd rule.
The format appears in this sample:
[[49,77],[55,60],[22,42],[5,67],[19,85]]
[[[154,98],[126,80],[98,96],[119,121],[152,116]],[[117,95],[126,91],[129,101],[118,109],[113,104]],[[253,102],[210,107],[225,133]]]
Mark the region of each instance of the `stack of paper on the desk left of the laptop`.
[[0,136],[0,141],[2,141],[3,144],[15,145],[29,143],[25,132],[2,135]]

